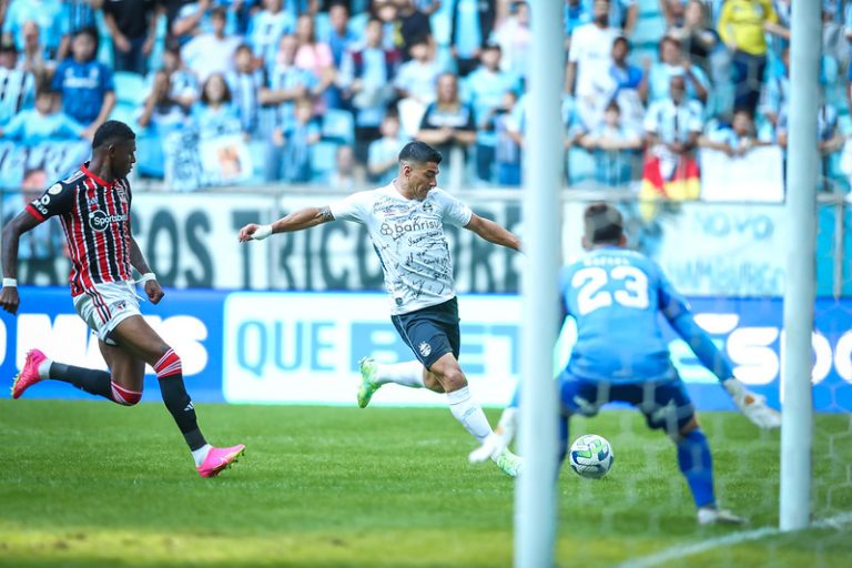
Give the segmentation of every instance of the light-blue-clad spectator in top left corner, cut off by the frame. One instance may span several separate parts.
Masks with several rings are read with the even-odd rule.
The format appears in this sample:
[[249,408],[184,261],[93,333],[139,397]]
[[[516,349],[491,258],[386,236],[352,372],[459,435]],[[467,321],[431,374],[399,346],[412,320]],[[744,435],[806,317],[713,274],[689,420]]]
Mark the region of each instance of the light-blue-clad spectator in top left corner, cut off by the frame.
[[3,38],[14,41],[19,51],[24,51],[24,30],[27,22],[33,22],[39,29],[44,60],[55,60],[68,36],[69,19],[63,13],[60,0],[11,0],[3,19]]

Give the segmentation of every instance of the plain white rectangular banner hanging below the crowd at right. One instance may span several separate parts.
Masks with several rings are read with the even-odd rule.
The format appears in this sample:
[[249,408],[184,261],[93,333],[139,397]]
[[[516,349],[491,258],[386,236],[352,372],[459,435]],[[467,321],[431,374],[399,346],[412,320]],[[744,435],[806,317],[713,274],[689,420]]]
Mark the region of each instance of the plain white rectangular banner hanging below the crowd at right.
[[744,156],[701,150],[701,199],[727,202],[784,201],[784,155],[779,146],[755,148]]

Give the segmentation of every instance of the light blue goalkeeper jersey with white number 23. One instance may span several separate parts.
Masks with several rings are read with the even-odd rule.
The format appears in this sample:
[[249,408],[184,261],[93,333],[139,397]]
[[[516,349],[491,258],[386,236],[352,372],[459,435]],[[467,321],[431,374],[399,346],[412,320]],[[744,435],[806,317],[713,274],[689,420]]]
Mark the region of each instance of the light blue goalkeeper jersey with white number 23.
[[562,268],[559,290],[577,321],[569,375],[613,384],[677,378],[659,314],[672,323],[691,316],[653,261],[617,246],[595,248]]

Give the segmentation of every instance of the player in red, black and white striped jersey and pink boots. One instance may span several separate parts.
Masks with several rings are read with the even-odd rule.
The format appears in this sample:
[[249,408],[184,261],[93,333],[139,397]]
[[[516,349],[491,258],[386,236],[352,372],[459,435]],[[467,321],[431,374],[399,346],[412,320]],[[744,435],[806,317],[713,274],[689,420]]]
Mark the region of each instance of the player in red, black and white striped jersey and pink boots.
[[98,335],[109,372],[75,367],[32,349],[14,377],[12,397],[32,385],[54,379],[124,406],[142,397],[145,364],[153,367],[165,407],[174,417],[202,477],[219,475],[244,446],[216,448],[204,439],[195,408],[183,384],[181,358],[144,321],[131,270],[143,276],[145,295],[158,304],[163,291],[131,232],[131,191],[126,175],[135,160],[135,134],[118,121],[104,122],[92,140],[92,160],[43,195],[3,229],[3,287],[0,307],[11,314],[20,303],[16,281],[21,234],[59,216],[71,255],[71,296],[80,317]]

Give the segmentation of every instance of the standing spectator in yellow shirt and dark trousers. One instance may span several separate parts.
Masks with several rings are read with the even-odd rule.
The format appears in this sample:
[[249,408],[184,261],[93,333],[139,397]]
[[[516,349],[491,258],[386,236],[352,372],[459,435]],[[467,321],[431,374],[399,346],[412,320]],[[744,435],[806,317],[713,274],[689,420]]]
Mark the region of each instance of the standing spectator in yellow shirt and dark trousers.
[[719,16],[719,37],[731,52],[734,108],[754,112],[767,68],[764,32],[789,38],[778,23],[770,0],[726,0]]

